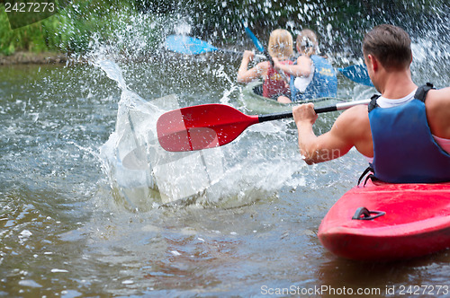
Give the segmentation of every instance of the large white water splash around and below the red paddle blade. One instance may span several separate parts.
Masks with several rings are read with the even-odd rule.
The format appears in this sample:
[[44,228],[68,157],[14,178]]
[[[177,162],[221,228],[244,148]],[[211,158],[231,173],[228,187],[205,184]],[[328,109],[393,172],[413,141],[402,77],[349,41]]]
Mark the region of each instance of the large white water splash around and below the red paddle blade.
[[[113,192],[128,208],[148,210],[181,199],[200,206],[248,204],[272,195],[298,171],[299,164],[291,162],[296,150],[278,152],[277,146],[270,145],[271,136],[275,143],[286,137],[283,122],[250,127],[224,147],[166,152],[157,141],[157,118],[179,108],[176,96],[144,101],[128,90],[117,64],[100,61],[95,65],[121,87],[116,128],[100,155]],[[249,138],[255,136],[269,142],[266,149],[257,145],[248,149]],[[273,159],[268,160],[267,150],[274,149]]]

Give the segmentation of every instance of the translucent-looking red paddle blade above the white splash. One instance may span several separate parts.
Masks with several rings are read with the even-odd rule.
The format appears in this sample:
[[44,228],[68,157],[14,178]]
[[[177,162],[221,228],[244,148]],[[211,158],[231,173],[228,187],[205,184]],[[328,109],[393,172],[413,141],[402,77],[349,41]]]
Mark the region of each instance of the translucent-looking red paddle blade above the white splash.
[[224,104],[202,104],[161,115],[157,139],[170,152],[202,150],[229,144],[258,122],[257,116],[247,116]]

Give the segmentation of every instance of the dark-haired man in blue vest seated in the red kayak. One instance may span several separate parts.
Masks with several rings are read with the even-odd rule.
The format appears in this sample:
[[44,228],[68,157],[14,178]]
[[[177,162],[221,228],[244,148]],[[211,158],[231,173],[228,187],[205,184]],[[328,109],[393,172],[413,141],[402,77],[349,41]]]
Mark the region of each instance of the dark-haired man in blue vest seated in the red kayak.
[[313,104],[293,108],[299,147],[308,164],[346,154],[353,146],[371,163],[374,177],[392,183],[450,181],[450,87],[412,82],[410,36],[383,24],[365,35],[369,76],[381,96],[369,107],[343,112],[329,132],[315,136]]

